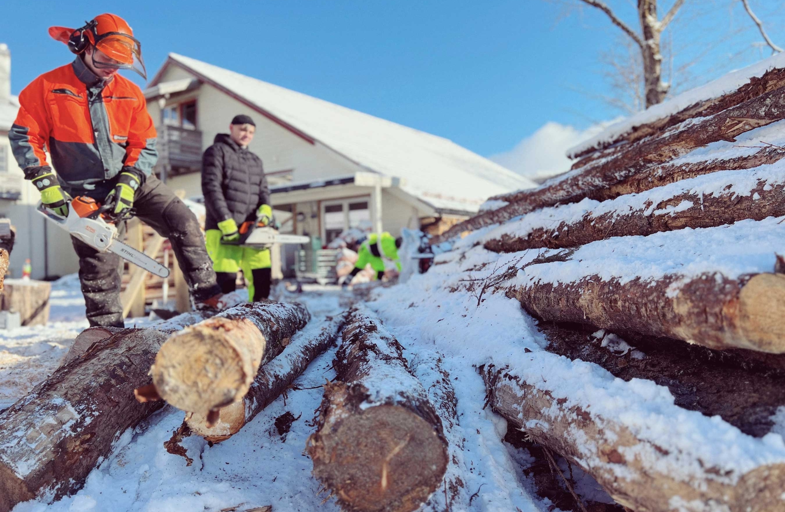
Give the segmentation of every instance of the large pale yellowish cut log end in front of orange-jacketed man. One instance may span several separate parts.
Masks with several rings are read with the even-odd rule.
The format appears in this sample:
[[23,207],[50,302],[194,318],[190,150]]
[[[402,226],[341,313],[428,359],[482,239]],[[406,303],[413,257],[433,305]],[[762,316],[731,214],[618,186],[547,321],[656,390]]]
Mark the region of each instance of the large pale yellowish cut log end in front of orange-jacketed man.
[[[254,343],[237,340],[253,339]],[[255,346],[245,353],[240,346]],[[265,337],[248,320],[215,317],[175,333],[150,369],[161,397],[183,411],[207,415],[242,398],[261,361]]]

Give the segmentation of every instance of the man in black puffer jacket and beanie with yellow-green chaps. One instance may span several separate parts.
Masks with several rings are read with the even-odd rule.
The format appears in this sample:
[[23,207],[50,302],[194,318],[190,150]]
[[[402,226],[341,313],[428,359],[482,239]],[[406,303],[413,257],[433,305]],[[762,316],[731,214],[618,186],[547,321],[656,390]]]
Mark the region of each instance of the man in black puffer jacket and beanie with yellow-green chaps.
[[202,159],[207,253],[224,293],[235,290],[237,272],[243,269],[249,302],[268,298],[272,266],[269,249],[231,244],[239,240],[238,226],[243,222],[268,225],[272,221],[265,170],[261,159],[248,151],[255,131],[250,116],[235,115],[229,133],[218,133]]

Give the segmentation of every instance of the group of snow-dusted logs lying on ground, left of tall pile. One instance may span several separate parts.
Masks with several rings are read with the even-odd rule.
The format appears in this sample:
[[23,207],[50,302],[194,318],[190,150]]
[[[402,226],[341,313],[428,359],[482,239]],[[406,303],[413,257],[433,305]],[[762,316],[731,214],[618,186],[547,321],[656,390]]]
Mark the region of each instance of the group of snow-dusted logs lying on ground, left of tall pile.
[[165,402],[185,411],[167,451],[184,455],[173,444],[192,433],[225,441],[339,335],[336,379],[306,447],[313,475],[346,510],[416,510],[445,477],[455,408],[429,399],[370,310],[312,320],[304,305],[256,303],[83,331],[65,364],[0,415],[0,512],[79,490],[119,436]]

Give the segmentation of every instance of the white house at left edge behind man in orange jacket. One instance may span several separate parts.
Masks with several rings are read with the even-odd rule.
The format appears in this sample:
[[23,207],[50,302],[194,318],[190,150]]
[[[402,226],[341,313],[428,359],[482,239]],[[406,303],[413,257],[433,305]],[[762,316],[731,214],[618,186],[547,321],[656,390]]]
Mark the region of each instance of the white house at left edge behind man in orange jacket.
[[35,211],[40,194],[24,179],[11,154],[8,133],[18,111],[19,100],[11,96],[11,53],[0,43],[0,218],[11,219],[17,230],[9,273],[21,276],[27,258],[35,279],[76,272],[79,261],[71,249],[71,238]]

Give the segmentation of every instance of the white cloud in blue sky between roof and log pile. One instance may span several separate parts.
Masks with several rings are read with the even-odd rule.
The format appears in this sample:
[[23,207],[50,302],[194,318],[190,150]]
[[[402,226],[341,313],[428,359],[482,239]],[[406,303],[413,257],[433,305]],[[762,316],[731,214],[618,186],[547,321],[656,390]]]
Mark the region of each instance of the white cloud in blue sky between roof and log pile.
[[491,155],[495,163],[535,181],[561,174],[570,169],[571,160],[565,153],[580,141],[600,133],[606,123],[575,130],[572,126],[549,121],[535,133],[524,138],[508,152]]

